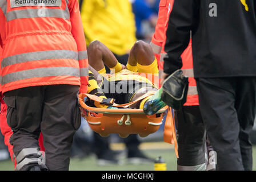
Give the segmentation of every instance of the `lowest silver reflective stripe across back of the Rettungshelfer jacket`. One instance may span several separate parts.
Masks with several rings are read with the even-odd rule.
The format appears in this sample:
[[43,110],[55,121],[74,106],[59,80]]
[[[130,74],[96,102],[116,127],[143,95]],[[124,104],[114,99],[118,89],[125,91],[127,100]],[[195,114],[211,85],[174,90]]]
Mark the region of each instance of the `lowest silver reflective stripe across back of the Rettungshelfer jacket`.
[[2,85],[13,82],[13,81],[27,79],[27,78],[49,77],[49,76],[80,77],[80,71],[79,71],[79,68],[72,68],[72,67],[26,69],[23,71],[9,73],[5,76],[2,76]]

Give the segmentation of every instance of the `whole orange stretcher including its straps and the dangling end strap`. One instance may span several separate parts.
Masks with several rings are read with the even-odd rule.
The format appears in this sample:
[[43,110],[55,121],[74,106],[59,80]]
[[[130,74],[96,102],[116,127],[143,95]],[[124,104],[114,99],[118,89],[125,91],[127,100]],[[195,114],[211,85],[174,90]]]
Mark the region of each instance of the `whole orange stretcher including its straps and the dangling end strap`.
[[167,111],[163,140],[174,144],[175,154],[178,158],[174,119],[169,106],[163,107],[153,115],[146,115],[142,109],[127,108],[131,104],[141,101],[152,94],[154,92],[148,92],[136,101],[122,105],[117,105],[110,99],[110,103],[115,107],[119,107],[119,109],[103,109],[86,105],[85,98],[86,100],[90,98],[90,100],[99,103],[103,100],[103,98],[91,94],[80,93],[78,100],[82,116],[86,119],[91,129],[102,137],[107,137],[114,133],[122,138],[126,138],[130,134],[147,137],[159,129],[162,125],[163,116]]

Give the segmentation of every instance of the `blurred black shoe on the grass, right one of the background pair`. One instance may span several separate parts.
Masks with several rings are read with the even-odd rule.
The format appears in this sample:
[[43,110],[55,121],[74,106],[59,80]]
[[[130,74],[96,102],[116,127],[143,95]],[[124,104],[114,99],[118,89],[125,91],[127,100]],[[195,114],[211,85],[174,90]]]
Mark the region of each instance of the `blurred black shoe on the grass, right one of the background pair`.
[[154,159],[149,158],[141,150],[128,152],[127,163],[131,164],[143,164],[143,163],[154,163]]

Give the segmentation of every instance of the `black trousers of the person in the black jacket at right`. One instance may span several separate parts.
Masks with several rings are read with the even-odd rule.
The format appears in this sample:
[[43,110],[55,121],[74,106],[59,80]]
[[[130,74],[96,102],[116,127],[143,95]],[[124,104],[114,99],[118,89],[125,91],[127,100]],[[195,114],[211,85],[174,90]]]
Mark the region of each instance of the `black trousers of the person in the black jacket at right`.
[[200,110],[218,170],[251,170],[256,77],[197,78]]

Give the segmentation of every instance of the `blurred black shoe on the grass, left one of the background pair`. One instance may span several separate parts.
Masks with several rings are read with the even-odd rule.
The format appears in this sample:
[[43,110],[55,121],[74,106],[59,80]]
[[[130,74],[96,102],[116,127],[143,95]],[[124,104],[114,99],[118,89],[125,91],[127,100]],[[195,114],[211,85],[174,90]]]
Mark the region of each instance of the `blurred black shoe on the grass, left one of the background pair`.
[[97,163],[99,166],[121,164],[121,162],[117,158],[117,152],[114,152],[112,150],[102,151],[102,154],[98,155]]

